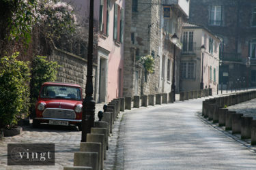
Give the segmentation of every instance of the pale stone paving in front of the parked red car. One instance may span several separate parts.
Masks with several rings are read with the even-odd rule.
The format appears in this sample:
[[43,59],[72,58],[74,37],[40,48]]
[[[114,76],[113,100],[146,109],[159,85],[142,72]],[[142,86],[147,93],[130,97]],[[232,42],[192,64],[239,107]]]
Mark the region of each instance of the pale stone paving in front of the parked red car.
[[[104,104],[96,104],[96,121],[98,111],[102,110]],[[110,143],[114,145],[113,142]],[[79,151],[81,132],[76,126],[50,126],[42,124],[40,129],[24,126],[23,133],[14,137],[5,137],[0,141],[0,169],[63,169],[72,166],[74,152]],[[55,143],[55,166],[7,166],[8,143]],[[110,147],[111,148],[111,147]]]

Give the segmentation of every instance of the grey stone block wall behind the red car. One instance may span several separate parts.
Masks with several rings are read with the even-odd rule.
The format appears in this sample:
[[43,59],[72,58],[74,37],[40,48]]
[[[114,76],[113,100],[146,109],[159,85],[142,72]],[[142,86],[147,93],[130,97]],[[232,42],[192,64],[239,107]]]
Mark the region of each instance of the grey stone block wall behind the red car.
[[[79,84],[83,89],[83,97],[85,97],[85,84],[86,84],[86,75],[87,75],[87,60],[80,56],[76,56],[69,52],[59,50],[54,48],[51,55],[48,56],[49,61],[57,61],[61,67],[57,73],[57,82],[68,82],[73,84]],[[93,83],[94,83],[94,92],[95,82],[96,82],[96,67],[94,64],[93,67]],[[95,95],[94,95],[95,97]]]

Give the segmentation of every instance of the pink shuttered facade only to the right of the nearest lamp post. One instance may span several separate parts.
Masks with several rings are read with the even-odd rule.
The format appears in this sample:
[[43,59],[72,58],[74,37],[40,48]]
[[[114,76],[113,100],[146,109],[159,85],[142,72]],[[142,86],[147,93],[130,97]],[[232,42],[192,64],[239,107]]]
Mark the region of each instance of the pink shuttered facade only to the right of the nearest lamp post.
[[98,102],[122,97],[125,1],[100,1]]

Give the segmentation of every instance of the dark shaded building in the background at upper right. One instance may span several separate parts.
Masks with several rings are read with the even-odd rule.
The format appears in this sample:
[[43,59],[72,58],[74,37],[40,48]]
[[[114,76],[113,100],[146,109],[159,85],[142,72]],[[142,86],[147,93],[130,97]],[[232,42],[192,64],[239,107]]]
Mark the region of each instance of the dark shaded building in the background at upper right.
[[[229,88],[256,85],[255,0],[191,0],[189,20],[223,39],[220,83],[229,84]],[[248,57],[251,65],[248,65]]]

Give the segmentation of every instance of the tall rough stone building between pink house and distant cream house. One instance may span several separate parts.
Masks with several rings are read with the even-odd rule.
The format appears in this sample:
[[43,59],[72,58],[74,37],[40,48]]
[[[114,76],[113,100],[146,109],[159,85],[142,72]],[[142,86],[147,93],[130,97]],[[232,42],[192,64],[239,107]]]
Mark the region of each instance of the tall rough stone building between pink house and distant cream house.
[[[164,26],[168,20],[165,20],[163,16],[165,6],[171,9],[172,17],[169,19],[175,20],[175,25],[168,27],[168,29],[165,29]],[[171,64],[171,62],[173,63],[171,35],[177,33],[179,36],[181,34],[182,22],[188,17],[188,7],[187,0],[126,1],[124,96],[133,97],[134,95],[150,95],[171,91],[171,81],[167,81],[167,75],[171,77],[171,68],[173,67],[171,66],[173,65]],[[182,46],[180,43],[176,45],[176,55],[177,58],[180,58]],[[145,69],[140,65],[139,58],[145,55],[154,57],[154,73],[145,73]],[[162,60],[163,56],[164,60]],[[176,60],[175,64],[175,82],[178,92],[179,59]],[[165,65],[167,66],[165,67]]]

